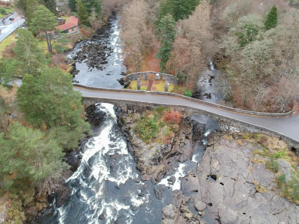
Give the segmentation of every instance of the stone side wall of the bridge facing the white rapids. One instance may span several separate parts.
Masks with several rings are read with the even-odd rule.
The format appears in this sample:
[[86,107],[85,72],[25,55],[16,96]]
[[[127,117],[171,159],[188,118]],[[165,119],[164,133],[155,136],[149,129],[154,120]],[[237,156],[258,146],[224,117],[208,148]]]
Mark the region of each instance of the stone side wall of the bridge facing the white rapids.
[[[229,117],[225,117],[216,113],[204,111],[201,109],[196,109],[188,106],[181,106],[181,105],[170,105],[170,104],[156,104],[156,103],[149,103],[149,102],[137,102],[131,101],[131,100],[120,100],[120,99],[108,99],[108,98],[97,98],[97,97],[83,97],[83,104],[86,105],[86,107],[94,104],[94,103],[111,103],[113,105],[116,105],[117,107],[123,109],[126,113],[143,113],[146,110],[152,110],[154,108],[157,108],[159,106],[162,107],[171,107],[176,111],[179,111],[182,113],[183,116],[190,116],[192,114],[202,114],[205,116],[208,116],[212,119],[214,119],[218,124],[221,126],[223,131],[242,131],[242,132],[248,132],[248,133],[261,133],[261,134],[267,134],[270,136],[277,136],[287,143],[289,143],[290,147],[294,147],[299,149],[299,142],[296,140],[289,138],[287,136],[284,136],[281,133],[278,133],[276,131],[272,131],[267,128],[263,128],[257,125],[253,125],[250,123],[242,122],[236,119],[232,119]],[[297,150],[297,154],[299,155],[299,150]]]

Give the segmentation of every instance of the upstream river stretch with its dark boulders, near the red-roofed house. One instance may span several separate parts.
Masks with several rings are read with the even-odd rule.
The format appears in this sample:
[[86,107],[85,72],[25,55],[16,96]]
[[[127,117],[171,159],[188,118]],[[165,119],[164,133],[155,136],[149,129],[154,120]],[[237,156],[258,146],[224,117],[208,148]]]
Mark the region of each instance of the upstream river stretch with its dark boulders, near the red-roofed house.
[[73,82],[103,88],[122,89],[118,82],[126,75],[118,25],[120,17],[112,15],[91,37],[77,42],[66,53],[73,60]]

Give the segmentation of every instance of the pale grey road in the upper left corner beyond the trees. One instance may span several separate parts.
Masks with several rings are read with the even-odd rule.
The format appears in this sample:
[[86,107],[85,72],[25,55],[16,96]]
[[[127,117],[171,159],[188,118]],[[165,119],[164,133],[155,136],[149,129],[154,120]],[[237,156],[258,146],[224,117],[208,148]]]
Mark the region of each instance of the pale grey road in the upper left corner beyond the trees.
[[[14,20],[10,21],[10,17],[14,18]],[[21,16],[15,12],[11,16],[7,17],[7,19],[5,19],[3,22],[2,19],[0,19],[0,42],[13,33],[13,31],[15,31],[24,22],[25,19],[22,19]]]

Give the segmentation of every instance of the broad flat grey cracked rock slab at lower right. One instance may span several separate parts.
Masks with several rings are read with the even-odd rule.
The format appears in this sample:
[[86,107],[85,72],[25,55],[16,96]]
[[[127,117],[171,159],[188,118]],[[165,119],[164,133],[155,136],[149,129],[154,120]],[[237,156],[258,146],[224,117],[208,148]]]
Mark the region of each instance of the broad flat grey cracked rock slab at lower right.
[[[210,216],[222,224],[298,223],[298,206],[275,189],[278,174],[267,170],[263,162],[252,162],[256,148],[239,146],[234,139],[215,138],[197,167],[199,191]],[[280,160],[286,172],[289,166]],[[211,181],[208,176],[216,180]],[[256,190],[257,184],[262,193]]]

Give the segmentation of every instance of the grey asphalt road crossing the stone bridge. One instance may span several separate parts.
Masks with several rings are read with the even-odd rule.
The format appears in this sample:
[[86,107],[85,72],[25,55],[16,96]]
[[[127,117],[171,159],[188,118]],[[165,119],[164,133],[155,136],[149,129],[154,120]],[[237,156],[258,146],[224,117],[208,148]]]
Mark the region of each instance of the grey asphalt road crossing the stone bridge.
[[127,100],[136,100],[136,101],[151,102],[151,103],[185,105],[193,108],[199,108],[205,111],[220,114],[253,125],[258,125],[264,128],[268,128],[270,130],[281,133],[284,136],[288,136],[299,142],[299,115],[298,115],[299,110],[298,109],[296,109],[296,114],[289,115],[288,117],[260,117],[260,116],[251,116],[246,114],[239,114],[235,112],[225,111],[219,108],[211,107],[209,105],[190,102],[184,99],[178,99],[171,96],[134,94],[134,93],[116,93],[116,92],[113,93],[108,91],[105,92],[105,91],[85,90],[76,87],[74,87],[74,90],[80,91],[83,96],[113,98],[113,99],[127,99]]

